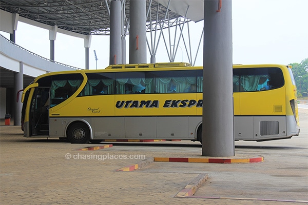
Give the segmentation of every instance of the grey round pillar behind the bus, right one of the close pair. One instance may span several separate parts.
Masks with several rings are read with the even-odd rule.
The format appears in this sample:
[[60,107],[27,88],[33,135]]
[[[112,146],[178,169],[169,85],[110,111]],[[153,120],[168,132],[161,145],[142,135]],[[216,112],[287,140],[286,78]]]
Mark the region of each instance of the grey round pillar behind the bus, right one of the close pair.
[[129,1],[129,63],[146,63],[146,2]]

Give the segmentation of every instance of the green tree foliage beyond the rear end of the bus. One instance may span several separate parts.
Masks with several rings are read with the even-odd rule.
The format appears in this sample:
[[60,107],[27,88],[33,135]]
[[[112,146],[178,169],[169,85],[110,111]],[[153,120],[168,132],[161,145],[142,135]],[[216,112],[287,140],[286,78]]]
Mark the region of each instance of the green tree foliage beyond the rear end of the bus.
[[[297,92],[307,93],[308,91],[308,58],[301,61],[301,63],[290,64],[295,78]],[[299,96],[299,95],[298,95]]]

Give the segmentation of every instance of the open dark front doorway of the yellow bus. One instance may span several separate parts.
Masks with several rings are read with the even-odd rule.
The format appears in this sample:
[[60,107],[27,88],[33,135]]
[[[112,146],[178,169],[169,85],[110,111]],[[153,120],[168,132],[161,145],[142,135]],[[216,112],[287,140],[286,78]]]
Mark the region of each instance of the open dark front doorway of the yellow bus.
[[35,88],[30,110],[30,132],[35,135],[49,135],[50,88]]

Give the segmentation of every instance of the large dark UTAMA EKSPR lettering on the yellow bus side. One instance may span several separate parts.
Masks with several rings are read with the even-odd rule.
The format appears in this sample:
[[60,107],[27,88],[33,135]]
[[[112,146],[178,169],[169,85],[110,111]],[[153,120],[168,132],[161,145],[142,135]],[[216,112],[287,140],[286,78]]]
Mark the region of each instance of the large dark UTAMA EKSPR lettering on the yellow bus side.
[[[159,108],[159,100],[118,100],[116,108]],[[163,108],[191,108],[201,107],[202,99],[168,99],[165,100]]]

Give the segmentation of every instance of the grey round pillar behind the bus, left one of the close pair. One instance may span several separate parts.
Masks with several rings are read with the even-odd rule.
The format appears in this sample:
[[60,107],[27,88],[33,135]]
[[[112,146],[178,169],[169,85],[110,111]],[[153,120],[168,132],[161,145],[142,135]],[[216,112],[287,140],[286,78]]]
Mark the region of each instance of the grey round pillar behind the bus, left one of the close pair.
[[121,1],[110,2],[110,58],[109,64],[122,64],[122,39],[121,39]]

